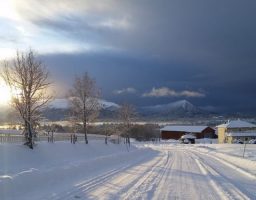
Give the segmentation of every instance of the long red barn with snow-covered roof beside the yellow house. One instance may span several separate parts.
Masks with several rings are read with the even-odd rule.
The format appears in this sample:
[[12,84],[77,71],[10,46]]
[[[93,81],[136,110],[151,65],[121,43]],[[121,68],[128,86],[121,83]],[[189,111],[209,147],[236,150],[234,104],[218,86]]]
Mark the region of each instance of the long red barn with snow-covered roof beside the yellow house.
[[160,133],[163,140],[178,140],[188,133],[193,134],[196,139],[217,137],[215,130],[209,126],[165,126],[160,129]]

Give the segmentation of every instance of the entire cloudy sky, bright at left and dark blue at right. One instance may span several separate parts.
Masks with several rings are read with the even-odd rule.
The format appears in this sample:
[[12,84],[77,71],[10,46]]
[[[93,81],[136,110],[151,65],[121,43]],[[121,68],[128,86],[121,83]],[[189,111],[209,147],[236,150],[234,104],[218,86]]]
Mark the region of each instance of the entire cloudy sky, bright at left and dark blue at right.
[[32,48],[57,98],[87,71],[102,98],[256,113],[254,0],[0,0],[0,59]]

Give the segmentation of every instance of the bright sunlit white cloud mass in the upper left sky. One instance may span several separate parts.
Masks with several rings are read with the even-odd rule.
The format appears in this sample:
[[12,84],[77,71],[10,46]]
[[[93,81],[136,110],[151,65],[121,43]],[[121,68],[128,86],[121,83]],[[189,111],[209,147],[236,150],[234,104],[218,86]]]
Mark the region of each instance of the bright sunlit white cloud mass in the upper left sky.
[[127,31],[131,27],[129,15],[118,11],[115,4],[113,0],[0,0],[1,58],[29,47],[42,54],[119,51],[95,39],[99,30]]

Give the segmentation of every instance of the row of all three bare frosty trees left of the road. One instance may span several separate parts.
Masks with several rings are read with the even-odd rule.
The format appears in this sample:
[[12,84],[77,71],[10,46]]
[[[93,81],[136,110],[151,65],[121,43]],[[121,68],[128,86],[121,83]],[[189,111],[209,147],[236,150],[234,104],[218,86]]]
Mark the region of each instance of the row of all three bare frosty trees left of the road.
[[[25,145],[33,149],[36,129],[42,119],[42,111],[54,99],[50,93],[49,71],[39,60],[33,50],[27,52],[17,51],[15,58],[4,61],[1,77],[10,88],[11,106],[22,121]],[[70,104],[70,122],[74,130],[84,133],[85,143],[88,144],[88,124],[99,115],[100,90],[95,79],[87,72],[74,78],[73,85],[67,93]],[[118,112],[120,120],[118,130],[130,143],[131,128],[136,118],[135,108],[124,104]],[[109,127],[108,132],[113,132]]]

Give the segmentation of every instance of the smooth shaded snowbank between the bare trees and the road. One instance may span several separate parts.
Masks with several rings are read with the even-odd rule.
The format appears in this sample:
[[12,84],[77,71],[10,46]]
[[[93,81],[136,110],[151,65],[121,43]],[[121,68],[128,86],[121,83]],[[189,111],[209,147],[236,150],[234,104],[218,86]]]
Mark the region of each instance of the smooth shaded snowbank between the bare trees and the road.
[[[39,199],[73,187],[101,173],[115,173],[152,159],[158,152],[124,144],[39,143],[31,151],[17,144],[0,145],[0,199]],[[28,192],[29,191],[29,192]]]

